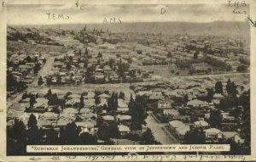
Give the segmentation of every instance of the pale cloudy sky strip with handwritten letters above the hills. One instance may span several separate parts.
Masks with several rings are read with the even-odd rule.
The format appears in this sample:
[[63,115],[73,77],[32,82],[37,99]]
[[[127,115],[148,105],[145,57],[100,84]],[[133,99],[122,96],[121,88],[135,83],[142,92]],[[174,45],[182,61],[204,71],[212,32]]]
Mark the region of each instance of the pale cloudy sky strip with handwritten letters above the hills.
[[[165,10],[165,14],[161,14]],[[97,4],[38,5],[9,4],[8,25],[52,25],[103,23],[105,18],[129,22],[212,22],[244,21],[247,14],[233,14],[228,4]],[[248,8],[245,9],[248,13]],[[53,14],[63,14],[65,20],[53,20]],[[50,20],[49,20],[50,17]],[[68,18],[68,19],[67,19]]]

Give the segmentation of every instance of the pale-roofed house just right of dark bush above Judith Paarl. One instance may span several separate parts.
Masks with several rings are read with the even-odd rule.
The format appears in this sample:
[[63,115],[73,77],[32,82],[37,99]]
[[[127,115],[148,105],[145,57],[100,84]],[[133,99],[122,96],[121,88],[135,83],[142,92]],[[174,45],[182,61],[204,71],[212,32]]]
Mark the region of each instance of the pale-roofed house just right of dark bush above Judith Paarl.
[[224,135],[222,131],[217,128],[209,128],[204,130],[206,135],[206,140],[208,142],[218,142],[219,139],[223,139]]

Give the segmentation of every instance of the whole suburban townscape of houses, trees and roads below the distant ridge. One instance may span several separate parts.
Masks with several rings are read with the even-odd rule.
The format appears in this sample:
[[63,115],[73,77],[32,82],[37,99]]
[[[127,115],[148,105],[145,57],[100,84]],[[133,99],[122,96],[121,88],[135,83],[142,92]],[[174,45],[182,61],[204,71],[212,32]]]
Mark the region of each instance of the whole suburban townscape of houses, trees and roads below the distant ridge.
[[7,154],[178,143],[251,153],[248,37],[113,29],[8,26]]

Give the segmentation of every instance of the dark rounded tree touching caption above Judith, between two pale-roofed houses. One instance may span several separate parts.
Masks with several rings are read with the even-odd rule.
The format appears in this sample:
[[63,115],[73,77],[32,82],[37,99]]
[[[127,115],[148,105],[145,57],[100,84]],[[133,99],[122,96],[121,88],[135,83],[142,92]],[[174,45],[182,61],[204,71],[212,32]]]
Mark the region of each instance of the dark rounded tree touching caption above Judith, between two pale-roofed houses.
[[190,128],[184,136],[184,144],[205,144],[206,138],[204,131],[199,128]]

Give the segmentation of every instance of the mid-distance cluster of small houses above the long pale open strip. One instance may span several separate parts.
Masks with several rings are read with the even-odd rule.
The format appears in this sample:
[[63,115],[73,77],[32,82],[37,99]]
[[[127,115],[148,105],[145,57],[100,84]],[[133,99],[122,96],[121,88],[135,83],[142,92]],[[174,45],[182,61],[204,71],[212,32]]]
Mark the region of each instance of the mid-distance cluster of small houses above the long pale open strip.
[[[150,76],[147,70],[133,66],[122,71],[121,76],[118,72],[121,65],[118,65],[116,61],[110,66],[108,61],[100,58],[87,58],[85,61],[85,57],[81,54],[68,51],[65,56],[55,59],[47,78],[50,84],[79,85],[84,81],[91,83],[137,82]],[[86,75],[88,69],[92,70],[88,72],[90,75]]]

